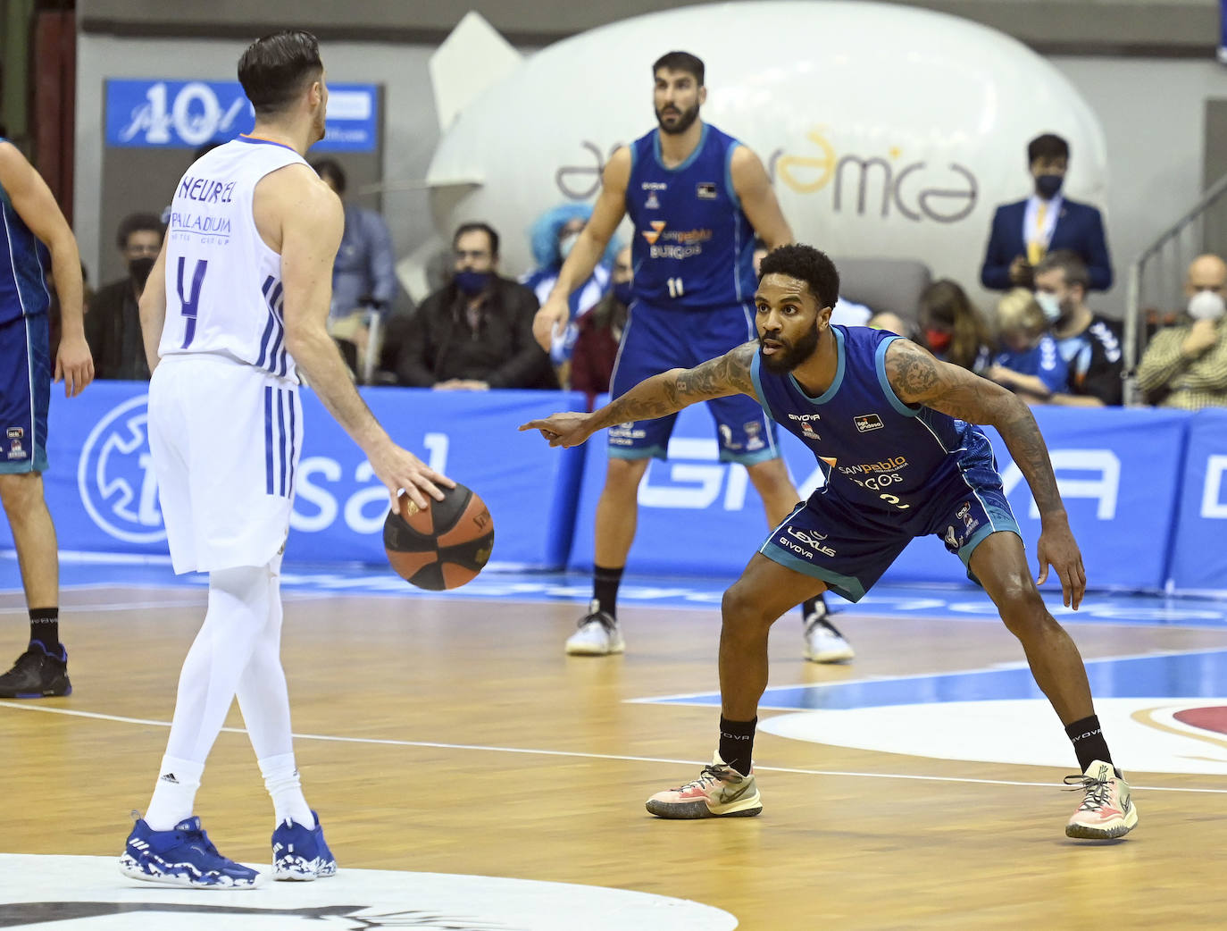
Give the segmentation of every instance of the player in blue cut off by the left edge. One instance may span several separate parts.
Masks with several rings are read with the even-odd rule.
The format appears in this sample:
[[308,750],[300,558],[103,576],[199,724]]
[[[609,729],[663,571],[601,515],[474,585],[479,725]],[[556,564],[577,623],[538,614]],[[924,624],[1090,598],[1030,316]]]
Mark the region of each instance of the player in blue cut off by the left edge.
[[0,139],[0,500],[9,517],[29,610],[29,646],[0,676],[0,698],[67,695],[69,655],[60,644],[59,551],[43,497],[52,367],[52,298],[40,249],[52,257],[60,302],[55,381],[75,398],[93,381],[81,311],[81,257],[47,183]]

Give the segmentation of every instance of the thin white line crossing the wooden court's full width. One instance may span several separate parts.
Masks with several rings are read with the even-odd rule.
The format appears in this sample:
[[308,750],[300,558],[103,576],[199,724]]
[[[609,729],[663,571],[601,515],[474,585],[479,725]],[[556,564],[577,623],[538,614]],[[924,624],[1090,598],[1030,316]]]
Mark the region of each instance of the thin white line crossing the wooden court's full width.
[[[66,715],[69,717],[87,717],[96,721],[113,721],[125,725],[144,725],[151,727],[169,727],[169,721],[153,721],[145,717],[125,717],[123,715],[104,715],[98,711],[77,711],[67,707],[47,707],[38,705],[18,704],[16,701],[0,700],[0,707],[15,709],[17,711],[42,711],[48,715]],[[223,733],[247,733],[243,727],[223,727]],[[480,743],[437,743],[434,741],[396,741],[382,737],[340,737],[323,733],[296,733],[296,741],[324,741],[328,743],[368,743],[384,747],[422,747],[427,749],[443,750],[475,750],[479,753],[517,753],[535,757],[567,757],[572,759],[596,759],[615,760],[618,763],[669,763],[685,766],[704,766],[706,762],[675,759],[671,757],[623,757],[611,753],[580,753],[578,750],[546,750],[529,747],[491,747]],[[826,769],[799,769],[795,766],[755,766],[756,773],[789,773],[801,776],[853,776],[858,779],[903,779],[917,782],[966,782],[988,786],[1026,786],[1026,787],[1064,787],[1060,782],[1026,782],[1012,779],[972,779],[969,776],[926,776],[907,773],[854,773],[849,770]],[[1189,789],[1184,786],[1142,786],[1133,785],[1131,789],[1141,789],[1147,792],[1199,792],[1202,795],[1227,795],[1227,789]]]

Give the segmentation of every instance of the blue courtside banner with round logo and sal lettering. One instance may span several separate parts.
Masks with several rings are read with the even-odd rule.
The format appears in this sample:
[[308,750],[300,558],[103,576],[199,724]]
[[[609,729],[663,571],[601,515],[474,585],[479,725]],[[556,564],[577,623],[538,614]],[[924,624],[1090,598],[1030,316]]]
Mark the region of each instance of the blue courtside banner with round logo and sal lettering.
[[[94,382],[71,400],[53,392],[50,468],[43,478],[61,549],[167,553],[148,452],[147,389],[144,383]],[[493,563],[562,565],[583,451],[560,456],[536,434],[518,434],[515,427],[542,410],[575,408],[583,395],[415,388],[362,393],[398,442],[481,495],[494,518]],[[303,416],[287,558],[383,561],[387,490],[310,391],[303,391]],[[12,545],[7,522],[0,545]]]

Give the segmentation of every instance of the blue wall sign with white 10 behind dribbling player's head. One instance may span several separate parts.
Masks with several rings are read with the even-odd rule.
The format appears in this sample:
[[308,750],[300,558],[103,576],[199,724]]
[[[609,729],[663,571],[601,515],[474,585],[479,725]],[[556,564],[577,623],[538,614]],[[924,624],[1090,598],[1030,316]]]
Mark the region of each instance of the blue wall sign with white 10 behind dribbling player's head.
[[[373,152],[378,146],[378,88],[329,85],[326,135],[313,151]],[[238,81],[107,81],[107,145],[195,149],[250,133],[255,112]]]

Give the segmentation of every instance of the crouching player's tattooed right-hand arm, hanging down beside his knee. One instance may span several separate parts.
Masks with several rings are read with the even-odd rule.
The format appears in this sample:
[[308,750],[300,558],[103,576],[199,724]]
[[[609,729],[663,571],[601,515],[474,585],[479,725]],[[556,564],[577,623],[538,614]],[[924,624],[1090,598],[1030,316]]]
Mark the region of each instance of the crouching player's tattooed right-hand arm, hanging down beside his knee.
[[1072,602],[1077,608],[1086,591],[1082,554],[1070,532],[1048,446],[1031,409],[1000,384],[940,362],[906,339],[894,340],[887,349],[886,377],[906,404],[924,404],[972,424],[996,427],[1039,508],[1038,581],[1044,582],[1052,565],[1061,580],[1065,604]]

